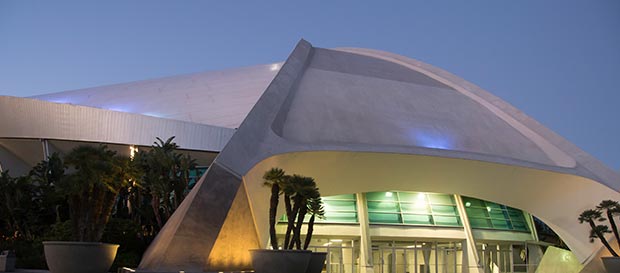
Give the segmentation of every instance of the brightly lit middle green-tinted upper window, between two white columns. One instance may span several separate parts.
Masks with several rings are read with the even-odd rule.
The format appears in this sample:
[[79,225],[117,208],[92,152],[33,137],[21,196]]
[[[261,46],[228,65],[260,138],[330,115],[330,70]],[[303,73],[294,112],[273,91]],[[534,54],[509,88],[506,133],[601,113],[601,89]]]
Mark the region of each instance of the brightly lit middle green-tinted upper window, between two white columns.
[[449,194],[369,192],[366,200],[371,224],[463,226]]

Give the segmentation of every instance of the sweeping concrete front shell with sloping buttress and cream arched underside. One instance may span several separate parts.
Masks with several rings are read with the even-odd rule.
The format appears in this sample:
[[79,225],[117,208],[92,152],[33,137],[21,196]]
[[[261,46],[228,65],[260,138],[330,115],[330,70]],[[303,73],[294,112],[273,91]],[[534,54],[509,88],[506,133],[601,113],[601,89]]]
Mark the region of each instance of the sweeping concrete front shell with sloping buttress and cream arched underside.
[[301,41],[144,254],[143,272],[250,269],[266,247],[271,167],[325,196],[456,193],[528,211],[580,262],[600,247],[581,211],[620,199],[620,175],[479,87],[430,65]]

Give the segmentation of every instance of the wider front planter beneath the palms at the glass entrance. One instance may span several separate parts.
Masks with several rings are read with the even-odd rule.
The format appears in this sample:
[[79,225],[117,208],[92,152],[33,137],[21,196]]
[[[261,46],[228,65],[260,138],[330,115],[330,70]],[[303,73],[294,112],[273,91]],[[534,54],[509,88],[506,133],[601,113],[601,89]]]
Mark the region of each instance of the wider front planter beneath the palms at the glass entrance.
[[309,250],[252,249],[252,266],[256,273],[306,272],[312,252]]

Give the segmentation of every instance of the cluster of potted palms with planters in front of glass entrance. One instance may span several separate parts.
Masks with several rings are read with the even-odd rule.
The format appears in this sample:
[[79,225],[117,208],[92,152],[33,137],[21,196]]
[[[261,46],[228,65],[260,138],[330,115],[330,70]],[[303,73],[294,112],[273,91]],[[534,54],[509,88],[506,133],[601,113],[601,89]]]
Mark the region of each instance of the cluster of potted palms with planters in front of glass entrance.
[[[264,176],[264,184],[271,188],[269,206],[269,237],[271,250],[251,250],[252,265],[259,273],[299,273],[307,272],[312,253],[307,250],[312,237],[312,228],[316,217],[323,217],[322,202],[319,189],[311,177],[286,175],[282,169],[272,168]],[[287,230],[284,243],[280,247],[276,237],[276,217],[280,196],[284,196],[287,216]],[[305,244],[301,244],[301,230],[305,216],[310,213],[311,221]],[[315,255],[316,256],[316,255]],[[320,255],[318,255],[320,256]],[[323,260],[320,261],[319,272]],[[312,266],[311,266],[312,267]],[[316,267],[316,266],[314,266]],[[312,271],[314,272],[314,271]]]

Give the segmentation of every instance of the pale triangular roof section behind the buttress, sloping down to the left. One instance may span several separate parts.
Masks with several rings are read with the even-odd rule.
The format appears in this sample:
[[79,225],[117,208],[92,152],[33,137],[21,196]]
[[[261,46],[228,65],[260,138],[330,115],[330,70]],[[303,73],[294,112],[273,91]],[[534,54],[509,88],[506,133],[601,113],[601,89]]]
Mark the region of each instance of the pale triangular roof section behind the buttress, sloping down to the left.
[[237,128],[280,63],[78,89],[33,98]]

